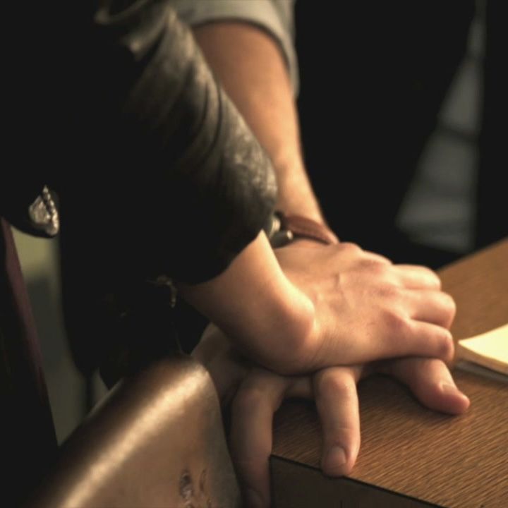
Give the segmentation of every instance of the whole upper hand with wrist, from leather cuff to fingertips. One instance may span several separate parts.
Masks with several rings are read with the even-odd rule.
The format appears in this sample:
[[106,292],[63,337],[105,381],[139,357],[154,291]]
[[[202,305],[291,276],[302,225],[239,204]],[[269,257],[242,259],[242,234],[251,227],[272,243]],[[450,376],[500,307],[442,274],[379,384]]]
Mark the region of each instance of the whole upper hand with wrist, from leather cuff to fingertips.
[[352,243],[271,250],[261,233],[222,274],[180,290],[248,358],[279,374],[402,356],[450,361],[454,352],[455,304],[439,277]]

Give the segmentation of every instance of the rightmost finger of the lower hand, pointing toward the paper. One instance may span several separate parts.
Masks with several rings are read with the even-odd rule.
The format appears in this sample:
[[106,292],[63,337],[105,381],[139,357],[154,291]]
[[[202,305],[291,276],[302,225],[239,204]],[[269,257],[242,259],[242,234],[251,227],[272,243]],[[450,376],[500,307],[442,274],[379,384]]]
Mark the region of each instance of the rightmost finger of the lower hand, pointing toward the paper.
[[436,358],[399,358],[380,365],[379,371],[407,385],[430,409],[443,413],[464,413],[469,399],[455,385],[447,365]]

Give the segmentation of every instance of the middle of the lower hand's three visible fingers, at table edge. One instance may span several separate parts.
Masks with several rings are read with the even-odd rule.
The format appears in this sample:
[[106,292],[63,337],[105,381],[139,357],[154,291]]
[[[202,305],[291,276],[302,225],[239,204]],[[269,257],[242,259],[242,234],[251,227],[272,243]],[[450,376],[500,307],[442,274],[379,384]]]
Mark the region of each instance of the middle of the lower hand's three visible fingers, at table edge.
[[332,367],[313,377],[323,433],[321,467],[329,476],[351,472],[360,449],[360,414],[356,382],[359,368]]

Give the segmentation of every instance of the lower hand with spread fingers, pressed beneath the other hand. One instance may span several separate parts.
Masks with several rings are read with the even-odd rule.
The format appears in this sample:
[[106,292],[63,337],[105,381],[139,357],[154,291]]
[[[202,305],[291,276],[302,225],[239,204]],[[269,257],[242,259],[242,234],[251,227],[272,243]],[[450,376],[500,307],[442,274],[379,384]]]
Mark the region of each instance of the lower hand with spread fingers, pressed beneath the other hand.
[[322,425],[322,470],[351,472],[360,449],[356,383],[372,373],[403,382],[424,406],[459,414],[469,406],[447,366],[435,358],[398,358],[368,365],[325,368],[312,376],[280,376],[246,361],[210,325],[193,351],[210,371],[224,406],[231,404],[229,442],[248,507],[270,506],[272,421],[289,397],[315,399]]

